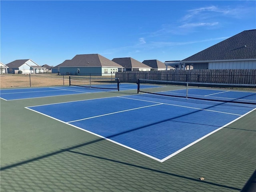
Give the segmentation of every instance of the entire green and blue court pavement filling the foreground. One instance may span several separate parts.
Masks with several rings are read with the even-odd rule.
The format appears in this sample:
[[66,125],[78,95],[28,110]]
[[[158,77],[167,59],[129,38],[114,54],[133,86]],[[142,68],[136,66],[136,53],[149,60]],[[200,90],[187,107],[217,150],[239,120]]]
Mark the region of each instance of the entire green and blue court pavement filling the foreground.
[[[243,188],[255,170],[253,94],[119,86],[1,90],[1,191]],[[208,94],[229,98],[191,98]]]

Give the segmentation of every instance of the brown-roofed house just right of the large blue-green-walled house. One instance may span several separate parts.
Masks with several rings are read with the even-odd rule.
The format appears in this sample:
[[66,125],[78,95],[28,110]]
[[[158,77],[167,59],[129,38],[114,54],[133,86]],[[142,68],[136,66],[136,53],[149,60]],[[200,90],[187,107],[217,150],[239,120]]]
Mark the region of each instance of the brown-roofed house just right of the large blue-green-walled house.
[[120,64],[124,71],[150,71],[152,69],[152,67],[130,57],[114,58],[112,61]]

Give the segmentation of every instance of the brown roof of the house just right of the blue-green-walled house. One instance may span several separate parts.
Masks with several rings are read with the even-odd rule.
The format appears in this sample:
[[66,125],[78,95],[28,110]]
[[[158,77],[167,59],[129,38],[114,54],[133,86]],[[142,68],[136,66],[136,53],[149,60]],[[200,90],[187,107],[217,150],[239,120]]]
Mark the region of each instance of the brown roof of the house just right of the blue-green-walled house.
[[141,63],[133,58],[125,57],[125,58],[114,58],[112,61],[120,64],[124,68],[152,68],[144,63]]

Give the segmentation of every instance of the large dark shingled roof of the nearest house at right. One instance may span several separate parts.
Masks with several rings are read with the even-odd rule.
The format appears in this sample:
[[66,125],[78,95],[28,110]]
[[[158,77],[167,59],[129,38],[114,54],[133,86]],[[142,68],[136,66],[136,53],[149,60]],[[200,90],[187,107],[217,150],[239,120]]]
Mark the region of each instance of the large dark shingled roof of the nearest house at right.
[[256,59],[256,30],[246,30],[182,61]]

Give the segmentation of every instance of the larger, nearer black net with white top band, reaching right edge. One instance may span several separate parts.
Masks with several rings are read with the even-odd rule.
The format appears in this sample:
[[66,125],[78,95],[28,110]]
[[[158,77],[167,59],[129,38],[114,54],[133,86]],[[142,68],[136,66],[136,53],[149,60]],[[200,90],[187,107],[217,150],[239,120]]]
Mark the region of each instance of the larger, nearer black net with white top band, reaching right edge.
[[256,104],[256,85],[138,79],[138,93]]

